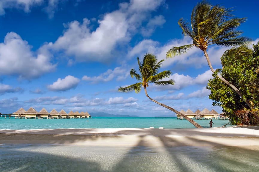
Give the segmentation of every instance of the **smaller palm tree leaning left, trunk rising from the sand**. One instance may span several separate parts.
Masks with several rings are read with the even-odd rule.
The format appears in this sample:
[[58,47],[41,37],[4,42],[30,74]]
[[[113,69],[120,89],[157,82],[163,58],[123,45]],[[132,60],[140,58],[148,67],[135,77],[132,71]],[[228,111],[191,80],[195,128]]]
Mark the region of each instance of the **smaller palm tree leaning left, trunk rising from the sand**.
[[177,113],[178,115],[182,116],[184,119],[187,119],[190,123],[192,123],[197,128],[202,128],[199,124],[197,124],[192,119],[188,118],[186,115],[182,114],[181,112],[178,112],[177,110],[164,105],[160,102],[157,102],[156,100],[149,97],[147,94],[146,88],[149,86],[149,83],[154,83],[155,85],[174,85],[174,81],[172,79],[168,81],[161,81],[162,79],[171,76],[172,72],[170,70],[165,70],[163,72],[158,73],[160,67],[162,66],[162,62],[164,60],[160,60],[157,62],[156,56],[151,53],[146,53],[143,57],[143,62],[140,62],[139,58],[137,57],[137,62],[139,65],[139,72],[137,73],[135,69],[130,70],[131,78],[135,76],[135,78],[140,81],[135,84],[129,85],[128,87],[119,87],[118,91],[122,92],[129,92],[132,90],[135,90],[135,93],[139,93],[141,90],[141,87],[144,87],[146,96],[152,101],[157,103],[160,106],[163,106],[169,110],[172,110],[173,112]]

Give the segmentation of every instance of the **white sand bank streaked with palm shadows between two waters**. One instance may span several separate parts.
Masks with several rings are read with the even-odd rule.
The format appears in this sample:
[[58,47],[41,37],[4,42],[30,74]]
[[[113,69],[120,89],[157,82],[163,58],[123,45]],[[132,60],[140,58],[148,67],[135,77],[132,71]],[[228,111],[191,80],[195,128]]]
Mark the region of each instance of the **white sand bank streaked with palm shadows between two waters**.
[[0,130],[0,144],[244,147],[259,146],[259,127]]

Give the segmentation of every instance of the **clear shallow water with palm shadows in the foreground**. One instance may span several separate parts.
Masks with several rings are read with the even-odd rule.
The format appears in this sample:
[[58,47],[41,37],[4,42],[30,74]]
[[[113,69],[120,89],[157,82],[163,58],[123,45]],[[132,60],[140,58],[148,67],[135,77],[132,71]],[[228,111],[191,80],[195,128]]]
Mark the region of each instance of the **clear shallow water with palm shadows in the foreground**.
[[1,172],[258,171],[259,147],[0,145]]

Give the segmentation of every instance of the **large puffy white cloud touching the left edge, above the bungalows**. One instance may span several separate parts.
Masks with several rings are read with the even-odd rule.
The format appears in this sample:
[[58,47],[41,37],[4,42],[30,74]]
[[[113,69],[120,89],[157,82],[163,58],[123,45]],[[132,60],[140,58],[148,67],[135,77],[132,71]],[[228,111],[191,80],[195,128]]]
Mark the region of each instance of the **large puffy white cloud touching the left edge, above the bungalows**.
[[0,74],[17,75],[21,79],[37,78],[55,69],[50,63],[50,56],[38,53],[34,56],[31,46],[21,37],[10,32],[0,43]]

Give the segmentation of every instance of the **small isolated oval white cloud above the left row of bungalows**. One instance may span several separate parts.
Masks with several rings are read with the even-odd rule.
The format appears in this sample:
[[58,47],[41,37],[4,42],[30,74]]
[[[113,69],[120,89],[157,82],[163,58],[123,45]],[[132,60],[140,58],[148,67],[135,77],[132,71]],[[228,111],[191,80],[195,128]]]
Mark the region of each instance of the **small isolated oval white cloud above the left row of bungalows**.
[[53,82],[52,85],[48,85],[47,88],[52,91],[66,91],[70,90],[71,88],[75,88],[79,82],[80,79],[68,75],[64,79],[57,79],[56,82]]

